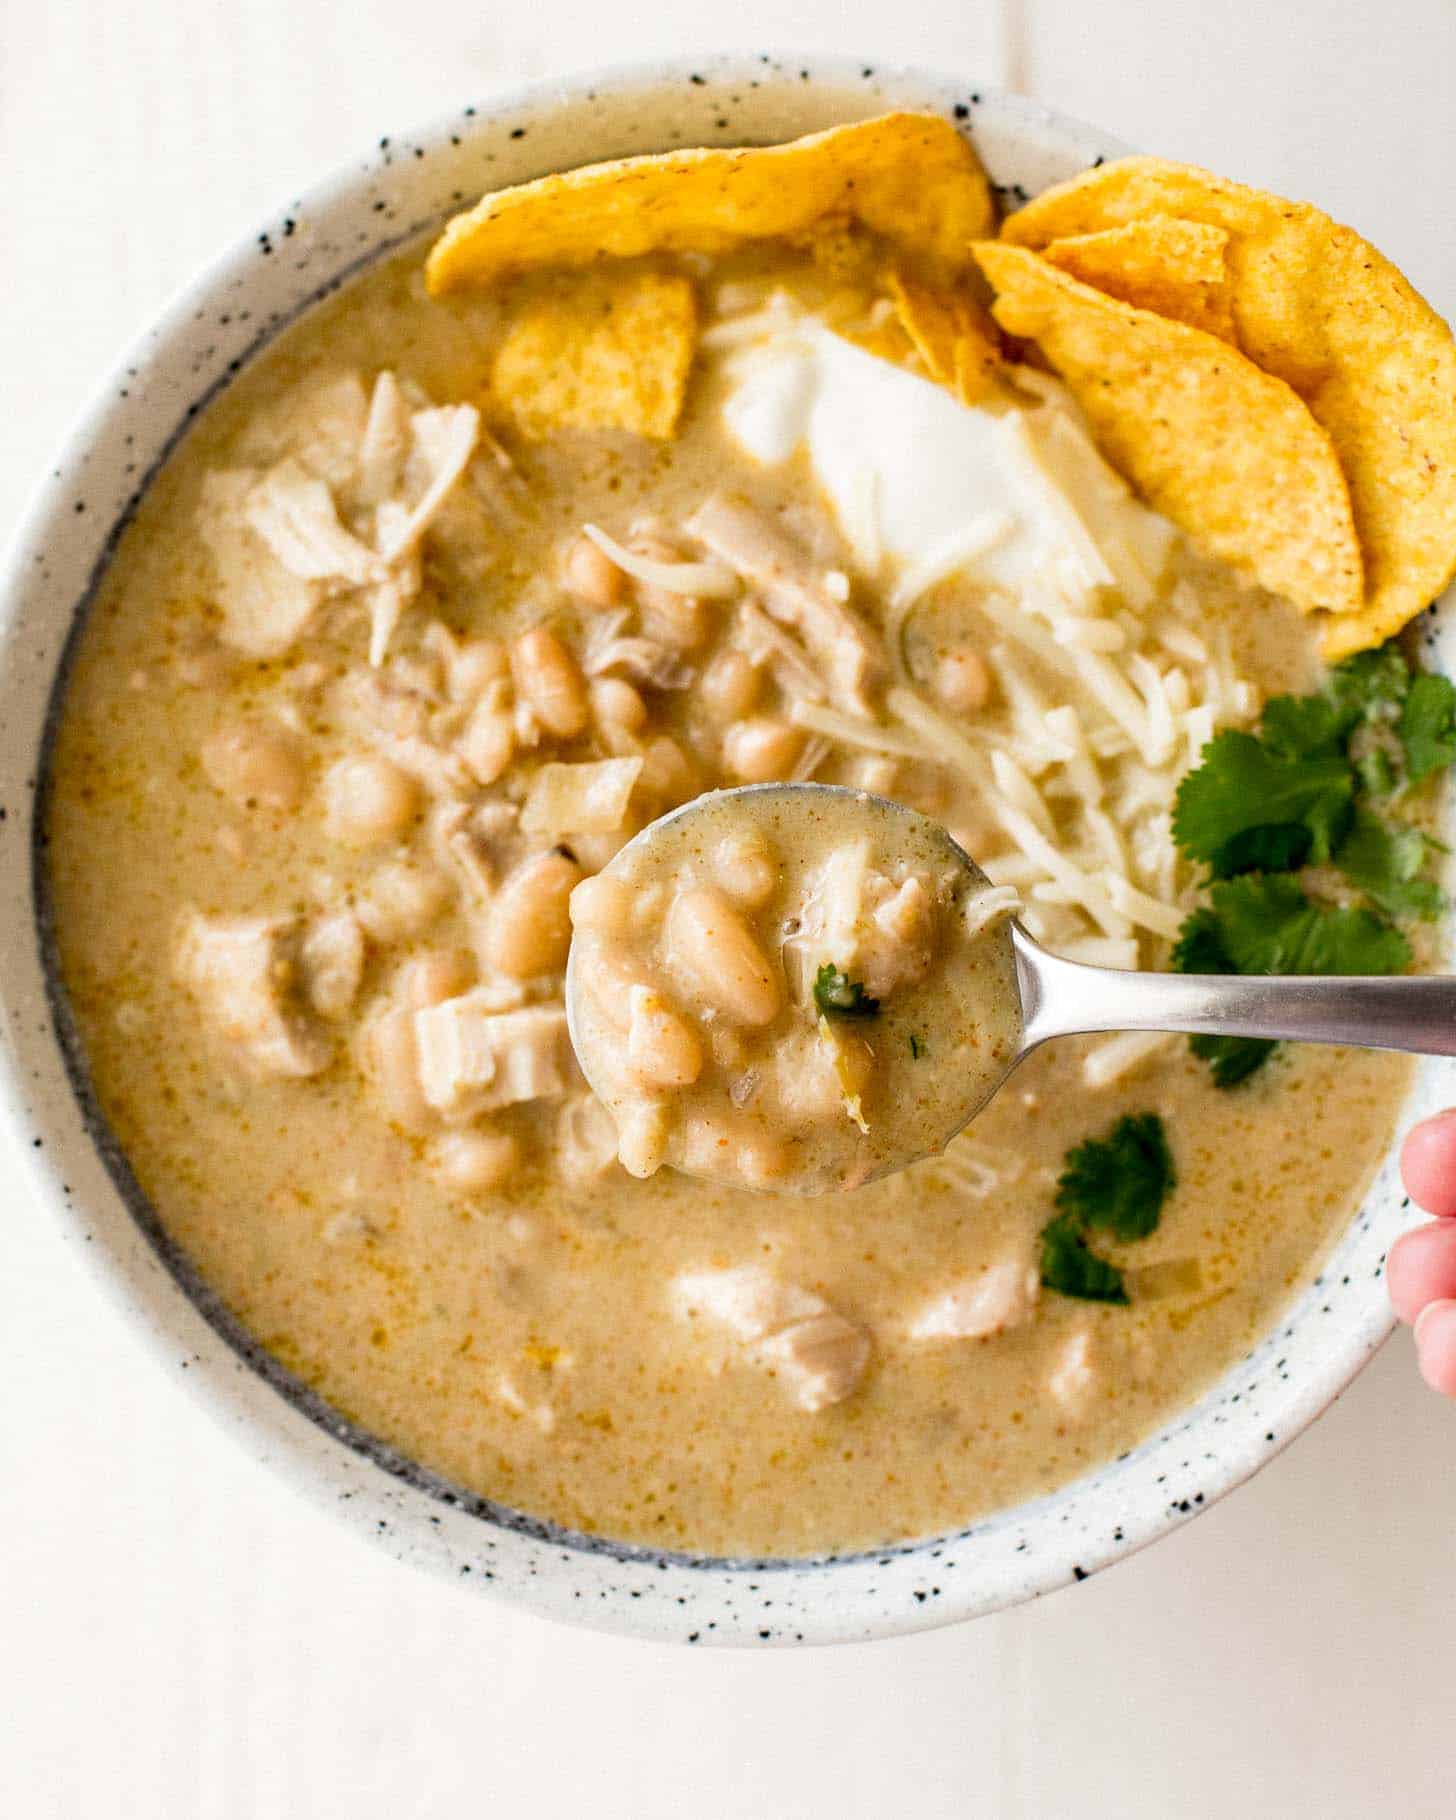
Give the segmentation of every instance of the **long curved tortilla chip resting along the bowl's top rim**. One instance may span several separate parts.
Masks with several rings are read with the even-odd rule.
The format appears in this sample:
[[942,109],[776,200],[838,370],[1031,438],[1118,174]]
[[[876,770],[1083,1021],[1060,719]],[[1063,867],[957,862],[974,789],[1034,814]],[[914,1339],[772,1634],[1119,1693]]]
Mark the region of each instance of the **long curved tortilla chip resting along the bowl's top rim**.
[[450,222],[426,280],[439,295],[528,266],[721,253],[832,215],[954,269],[996,222],[986,175],[956,127],[892,113],[786,146],[664,151],[500,189]]

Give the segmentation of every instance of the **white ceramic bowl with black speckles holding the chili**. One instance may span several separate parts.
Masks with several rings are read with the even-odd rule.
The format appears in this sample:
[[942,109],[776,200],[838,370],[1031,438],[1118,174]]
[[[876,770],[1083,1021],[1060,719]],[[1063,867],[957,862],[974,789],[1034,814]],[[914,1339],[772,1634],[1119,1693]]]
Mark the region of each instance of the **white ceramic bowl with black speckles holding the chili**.
[[[0,1077],[36,1207],[60,1219],[178,1380],[309,1496],[400,1560],[553,1618],[641,1636],[888,1636],[1048,1592],[1187,1522],[1298,1434],[1389,1332],[1381,1263],[1403,1223],[1394,1158],[1274,1334],[1161,1434],[1050,1498],[914,1547],[826,1562],[692,1560],[570,1534],[462,1492],[359,1432],[262,1352],[169,1245],[96,1114],[47,981],[36,781],[69,639],[138,491],[207,399],[298,309],[482,189],[635,151],[788,138],[886,107],[957,120],[1010,197],[1121,149],[968,82],[772,56],[541,84],[384,138],[182,293],[78,424],[4,581]],[[1449,1067],[1427,1065],[1409,1116],[1456,1097],[1454,1087]]]

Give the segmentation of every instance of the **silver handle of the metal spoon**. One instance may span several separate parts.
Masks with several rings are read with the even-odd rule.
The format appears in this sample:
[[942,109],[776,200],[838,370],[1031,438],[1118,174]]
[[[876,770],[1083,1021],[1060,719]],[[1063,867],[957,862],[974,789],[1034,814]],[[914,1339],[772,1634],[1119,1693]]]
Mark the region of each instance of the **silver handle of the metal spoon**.
[[1023,1052],[1054,1036],[1179,1030],[1456,1056],[1456,979],[1125,974],[1061,961],[1014,928]]

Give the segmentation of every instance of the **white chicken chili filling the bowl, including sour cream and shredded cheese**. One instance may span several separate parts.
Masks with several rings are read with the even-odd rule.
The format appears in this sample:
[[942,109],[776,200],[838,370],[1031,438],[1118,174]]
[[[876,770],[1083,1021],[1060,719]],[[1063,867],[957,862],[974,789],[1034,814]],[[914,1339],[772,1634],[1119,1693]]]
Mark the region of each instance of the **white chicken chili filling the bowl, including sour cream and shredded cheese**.
[[[1181,781],[1323,688],[1309,621],[1139,504],[1054,379],[937,384],[886,258],[844,229],[573,277],[692,328],[637,435],[502,402],[553,275],[428,298],[400,253],[178,444],[58,724],[60,979],[171,1239],[366,1431],[650,1547],[879,1547],[1134,1445],[1318,1267],[1409,1079],[1067,1041],[901,1176],[748,1192],[859,1179],[990,1067],[1012,897],[1059,954],[1170,965],[1212,914]],[[837,808],[637,881],[650,823],[783,781],[948,828],[990,921]],[[568,1037],[573,917],[626,1141]],[[719,1125],[744,1187],[646,1176]]]

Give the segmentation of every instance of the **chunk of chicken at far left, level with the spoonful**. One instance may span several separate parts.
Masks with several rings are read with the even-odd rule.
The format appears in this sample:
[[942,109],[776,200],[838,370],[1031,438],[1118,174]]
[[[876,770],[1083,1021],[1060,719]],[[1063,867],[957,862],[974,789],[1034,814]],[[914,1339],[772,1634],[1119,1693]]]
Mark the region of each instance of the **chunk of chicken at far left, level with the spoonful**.
[[193,914],[177,977],[251,1072],[300,1079],[329,1065],[331,1043],[302,1001],[297,919]]

